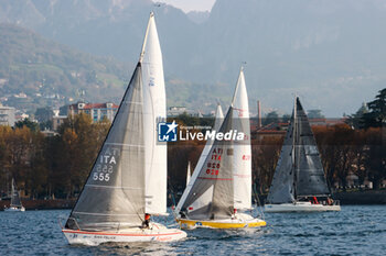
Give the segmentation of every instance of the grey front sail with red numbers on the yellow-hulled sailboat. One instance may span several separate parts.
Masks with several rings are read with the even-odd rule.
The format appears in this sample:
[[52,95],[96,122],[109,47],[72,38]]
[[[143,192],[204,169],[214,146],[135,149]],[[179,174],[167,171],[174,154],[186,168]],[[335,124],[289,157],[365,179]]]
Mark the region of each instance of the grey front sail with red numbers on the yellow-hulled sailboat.
[[[233,108],[222,124],[219,132],[232,130]],[[206,156],[197,178],[194,181],[184,201],[182,201],[182,218],[192,220],[218,220],[228,219],[233,214],[233,141],[215,141]],[[197,204],[201,197],[211,198],[206,204]]]

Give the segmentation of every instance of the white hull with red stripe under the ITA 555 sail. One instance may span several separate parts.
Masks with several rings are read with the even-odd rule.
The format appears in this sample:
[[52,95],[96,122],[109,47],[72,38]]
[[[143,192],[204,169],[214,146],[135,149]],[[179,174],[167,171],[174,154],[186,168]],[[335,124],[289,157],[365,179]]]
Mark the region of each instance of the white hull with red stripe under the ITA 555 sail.
[[138,243],[138,242],[173,242],[186,237],[186,233],[178,229],[152,223],[151,229],[127,229],[117,232],[92,232],[62,230],[69,244],[99,245],[103,243]]

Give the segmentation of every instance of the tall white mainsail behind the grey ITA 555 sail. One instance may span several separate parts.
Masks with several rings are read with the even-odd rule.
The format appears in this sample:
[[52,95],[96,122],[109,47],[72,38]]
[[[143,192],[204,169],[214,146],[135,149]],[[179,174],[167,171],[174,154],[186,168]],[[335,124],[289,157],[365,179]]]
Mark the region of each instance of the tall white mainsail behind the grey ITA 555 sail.
[[154,14],[150,13],[141,53],[146,147],[146,212],[167,212],[167,144],[158,142],[158,123],[167,120],[163,65]]

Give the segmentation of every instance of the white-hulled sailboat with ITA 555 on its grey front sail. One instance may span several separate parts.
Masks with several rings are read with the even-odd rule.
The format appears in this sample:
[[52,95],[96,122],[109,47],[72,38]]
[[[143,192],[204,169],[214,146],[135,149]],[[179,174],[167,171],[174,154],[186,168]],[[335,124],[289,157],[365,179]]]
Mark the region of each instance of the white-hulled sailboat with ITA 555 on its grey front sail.
[[62,229],[69,244],[169,242],[179,229],[149,221],[167,214],[167,144],[156,143],[165,120],[162,54],[150,14],[140,59],[89,177]]

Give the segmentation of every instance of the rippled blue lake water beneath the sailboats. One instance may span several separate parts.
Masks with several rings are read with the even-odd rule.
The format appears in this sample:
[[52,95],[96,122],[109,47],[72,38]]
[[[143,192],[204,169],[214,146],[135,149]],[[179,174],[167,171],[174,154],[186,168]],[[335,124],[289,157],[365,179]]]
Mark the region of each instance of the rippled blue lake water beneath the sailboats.
[[[69,210],[0,212],[0,255],[386,255],[386,205],[341,212],[270,213],[260,230],[195,230],[168,244],[71,246],[58,218]],[[161,219],[173,225],[172,216]]]

